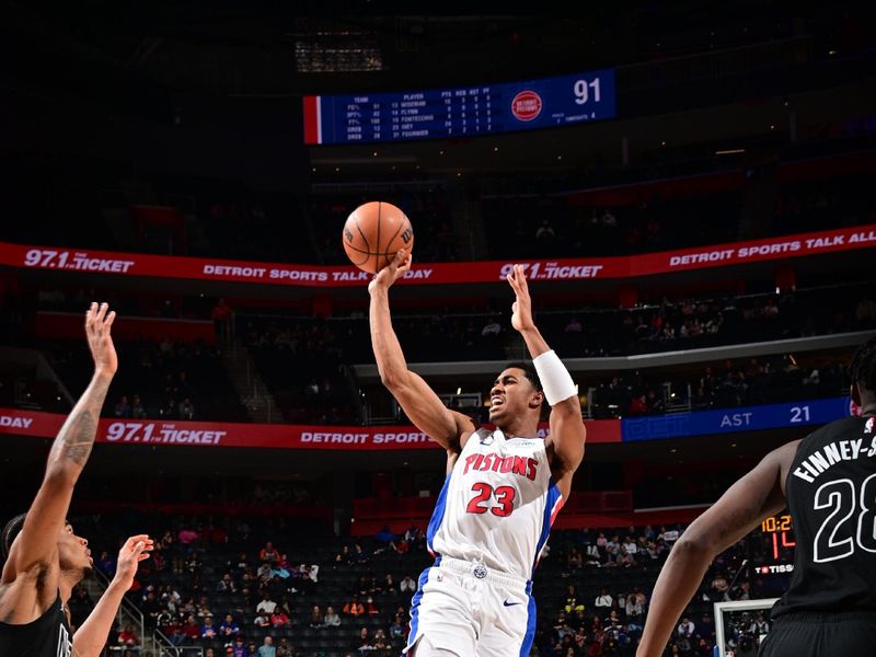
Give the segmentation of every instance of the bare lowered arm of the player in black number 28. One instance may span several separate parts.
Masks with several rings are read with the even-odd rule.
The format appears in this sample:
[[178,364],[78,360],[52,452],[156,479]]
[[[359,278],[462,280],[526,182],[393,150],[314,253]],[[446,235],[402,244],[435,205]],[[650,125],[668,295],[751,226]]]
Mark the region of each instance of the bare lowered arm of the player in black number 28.
[[785,508],[784,481],[797,442],[766,454],[681,534],[654,587],[636,657],[662,655],[679,616],[714,558],[764,518]]

